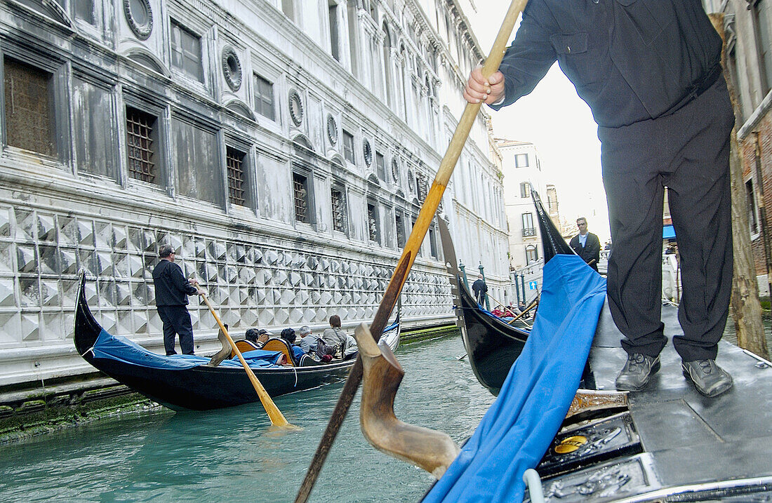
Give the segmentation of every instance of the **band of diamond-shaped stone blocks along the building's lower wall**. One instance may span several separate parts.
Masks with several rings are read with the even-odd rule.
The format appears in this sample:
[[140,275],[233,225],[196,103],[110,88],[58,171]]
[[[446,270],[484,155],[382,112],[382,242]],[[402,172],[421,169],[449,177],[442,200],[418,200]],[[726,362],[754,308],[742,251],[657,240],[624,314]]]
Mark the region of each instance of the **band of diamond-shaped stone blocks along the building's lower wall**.
[[[253,241],[249,241],[253,238]],[[241,336],[252,326],[323,325],[372,319],[394,259],[332,255],[269,238],[202,235],[138,224],[0,205],[0,347],[62,343],[72,337],[77,274],[83,268],[90,308],[110,333],[161,339],[152,269],[158,246],[171,244],[185,275],[195,275],[222,319]],[[96,281],[94,281],[96,279]],[[191,297],[195,333],[215,319]],[[415,270],[402,295],[403,316],[446,317],[452,306],[444,274]]]

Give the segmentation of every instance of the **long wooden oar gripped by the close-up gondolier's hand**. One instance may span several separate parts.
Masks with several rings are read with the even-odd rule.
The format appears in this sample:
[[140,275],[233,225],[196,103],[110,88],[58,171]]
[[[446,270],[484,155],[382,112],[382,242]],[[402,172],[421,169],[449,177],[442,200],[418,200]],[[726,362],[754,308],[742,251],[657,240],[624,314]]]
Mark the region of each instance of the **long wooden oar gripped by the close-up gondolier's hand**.
[[[499,34],[496,35],[496,40],[490,49],[490,55],[482,66],[482,75],[486,78],[492,76],[496,69],[499,68],[506,50],[506,43],[509,42],[517,17],[520,15],[520,12],[523,12],[526,2],[527,0],[513,0],[510,9],[506,12],[504,21],[499,29]],[[445,151],[445,157],[442,157],[442,162],[440,162],[437,176],[434,182],[432,182],[432,188],[429,189],[426,195],[424,204],[410,233],[410,238],[405,243],[405,249],[397,263],[397,267],[394,268],[394,275],[391,276],[391,280],[384,293],[384,298],[381,299],[378,312],[375,313],[375,318],[370,326],[370,332],[375,340],[381,338],[381,332],[383,332],[385,323],[394,309],[394,303],[397,302],[399,292],[401,292],[402,286],[405,285],[405,281],[408,279],[408,272],[410,272],[410,268],[413,262],[415,262],[415,255],[418,254],[418,249],[421,248],[426,232],[432,224],[432,219],[440,201],[442,201],[442,194],[445,192],[445,187],[448,186],[450,175],[453,173],[456,161],[459,160],[464,143],[466,143],[466,138],[469,136],[469,130],[472,129],[481,105],[482,103],[467,103],[459,124],[455,128],[455,133],[453,133],[453,137],[450,140],[448,150]],[[300,485],[300,490],[295,498],[296,503],[308,501],[313,484],[317,481],[324,460],[327,458],[327,453],[335,441],[340,425],[343,424],[344,417],[346,417],[351,405],[351,400],[354,400],[354,394],[357,393],[361,380],[362,360],[357,356],[357,362],[351,367],[344,388],[341,390],[340,397],[335,405],[335,410],[330,417],[330,422],[327,424],[327,429],[324,430],[319,447],[317,447],[317,452],[313,455],[313,460],[308,471],[306,471],[306,477],[303,478],[303,484]]]

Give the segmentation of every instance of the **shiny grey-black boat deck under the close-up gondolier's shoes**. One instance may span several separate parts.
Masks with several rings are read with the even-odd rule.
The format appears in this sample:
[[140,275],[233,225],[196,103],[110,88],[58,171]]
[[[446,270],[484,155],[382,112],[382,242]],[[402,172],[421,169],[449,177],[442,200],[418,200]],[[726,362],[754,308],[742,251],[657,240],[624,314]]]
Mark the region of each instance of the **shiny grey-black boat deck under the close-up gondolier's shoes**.
[[[601,484],[602,487],[592,490],[593,494],[585,498],[616,500],[627,491],[641,495],[686,484],[772,477],[772,368],[756,356],[722,341],[716,361],[732,375],[734,387],[720,397],[703,397],[682,375],[680,357],[672,346],[672,336],[680,331],[677,309],[663,306],[662,321],[669,339],[661,353],[662,368],[652,376],[645,390],[629,395],[630,416],[643,452],[607,464],[607,468],[608,465],[617,467],[615,477],[625,478],[625,483],[621,484],[619,479],[616,483],[609,482],[610,485]],[[598,389],[615,389],[615,378],[626,358],[620,339],[621,333],[608,307],[604,306],[590,355]],[[625,464],[635,467],[625,468]],[[563,479],[558,492],[565,495],[571,481],[586,485],[592,471],[598,471],[598,467],[552,481]],[[638,488],[630,487],[636,484]],[[608,491],[611,486],[621,490],[621,494],[613,498],[601,494],[602,489]],[[550,482],[546,481],[548,499],[549,488]],[[574,492],[574,496],[578,494]],[[721,493],[716,500],[735,497]],[[748,495],[745,498],[747,501]],[[560,501],[571,499],[574,498],[560,498]]]

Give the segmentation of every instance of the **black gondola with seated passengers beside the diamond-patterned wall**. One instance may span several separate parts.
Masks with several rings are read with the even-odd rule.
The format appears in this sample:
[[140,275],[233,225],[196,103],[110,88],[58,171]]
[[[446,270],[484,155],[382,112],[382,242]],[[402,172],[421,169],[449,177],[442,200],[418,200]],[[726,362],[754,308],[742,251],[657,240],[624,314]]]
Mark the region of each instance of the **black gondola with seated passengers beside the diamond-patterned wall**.
[[[207,366],[201,356],[162,356],[121,336],[107,333],[86,302],[86,278],[81,274],[76,302],[74,341],[91,365],[137,393],[172,410],[210,410],[256,402],[258,396],[239,360]],[[381,341],[393,350],[400,339],[399,320],[384,329]],[[330,363],[308,361],[300,366],[272,363],[278,353],[251,352],[249,366],[271,397],[309,390],[344,378],[356,359]],[[245,356],[250,356],[249,354]],[[307,360],[310,360],[307,359]]]

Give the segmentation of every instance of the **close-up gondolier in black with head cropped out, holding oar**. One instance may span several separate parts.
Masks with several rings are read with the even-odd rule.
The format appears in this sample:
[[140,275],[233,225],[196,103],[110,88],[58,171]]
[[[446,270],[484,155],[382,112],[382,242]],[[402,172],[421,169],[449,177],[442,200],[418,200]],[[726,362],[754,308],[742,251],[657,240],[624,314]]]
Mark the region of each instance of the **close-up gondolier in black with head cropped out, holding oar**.
[[716,397],[732,378],[716,365],[732,282],[729,149],[734,124],[722,42],[699,0],[530,0],[500,71],[479,69],[464,96],[514,103],[557,60],[590,106],[601,140],[614,253],[608,306],[628,361],[619,390],[659,370],[662,207],[679,236],[684,295],[673,338],[685,376]]

